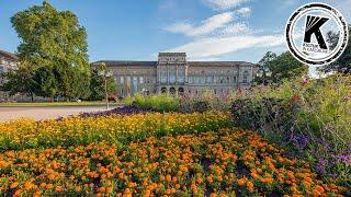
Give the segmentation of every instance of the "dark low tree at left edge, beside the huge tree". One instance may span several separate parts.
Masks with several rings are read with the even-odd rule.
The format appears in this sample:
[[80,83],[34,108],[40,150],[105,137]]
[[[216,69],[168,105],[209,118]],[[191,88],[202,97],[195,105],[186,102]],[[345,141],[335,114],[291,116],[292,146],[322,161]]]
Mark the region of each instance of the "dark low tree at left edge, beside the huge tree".
[[35,92],[33,73],[33,68],[26,62],[20,63],[19,69],[2,73],[5,82],[1,85],[1,91],[9,92],[10,95],[15,95],[16,93],[27,94],[33,101]]

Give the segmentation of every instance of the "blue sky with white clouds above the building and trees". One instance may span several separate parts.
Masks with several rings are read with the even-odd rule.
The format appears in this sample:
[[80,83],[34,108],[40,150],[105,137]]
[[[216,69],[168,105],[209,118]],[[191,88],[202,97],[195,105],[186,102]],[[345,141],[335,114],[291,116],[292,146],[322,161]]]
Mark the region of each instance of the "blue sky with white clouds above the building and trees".
[[[48,0],[77,14],[87,28],[90,61],[157,60],[159,51],[185,51],[191,60],[257,62],[286,50],[284,27],[308,0]],[[351,0],[324,0],[350,22]],[[10,18],[41,0],[0,0],[0,49],[20,39]]]

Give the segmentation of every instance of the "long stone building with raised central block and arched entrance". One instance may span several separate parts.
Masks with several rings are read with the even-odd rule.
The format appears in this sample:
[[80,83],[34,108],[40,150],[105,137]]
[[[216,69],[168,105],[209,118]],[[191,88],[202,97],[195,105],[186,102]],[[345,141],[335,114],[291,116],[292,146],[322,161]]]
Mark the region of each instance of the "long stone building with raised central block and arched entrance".
[[227,94],[238,88],[248,88],[257,67],[244,61],[186,61],[185,53],[160,53],[158,61],[104,62],[114,73],[117,94],[136,93],[200,94],[212,91]]

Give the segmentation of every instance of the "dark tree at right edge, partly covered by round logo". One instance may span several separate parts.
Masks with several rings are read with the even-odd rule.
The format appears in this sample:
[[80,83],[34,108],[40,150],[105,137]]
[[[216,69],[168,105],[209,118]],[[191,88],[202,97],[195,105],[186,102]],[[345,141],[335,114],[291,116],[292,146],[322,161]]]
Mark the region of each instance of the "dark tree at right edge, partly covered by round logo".
[[[349,32],[351,32],[350,25]],[[339,33],[328,32],[327,42],[329,44],[329,48],[335,48],[339,42]],[[347,48],[344,49],[340,58],[337,61],[320,68],[319,70],[324,72],[337,71],[340,73],[351,73],[351,34],[349,34]]]

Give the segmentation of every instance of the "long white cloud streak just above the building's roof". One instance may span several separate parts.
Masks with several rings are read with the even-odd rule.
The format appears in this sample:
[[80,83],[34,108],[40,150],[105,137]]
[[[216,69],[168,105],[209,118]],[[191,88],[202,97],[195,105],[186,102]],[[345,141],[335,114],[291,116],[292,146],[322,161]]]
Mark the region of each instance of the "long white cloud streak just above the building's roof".
[[166,51],[185,51],[192,59],[208,59],[253,47],[274,47],[285,43],[283,35],[208,37]]

